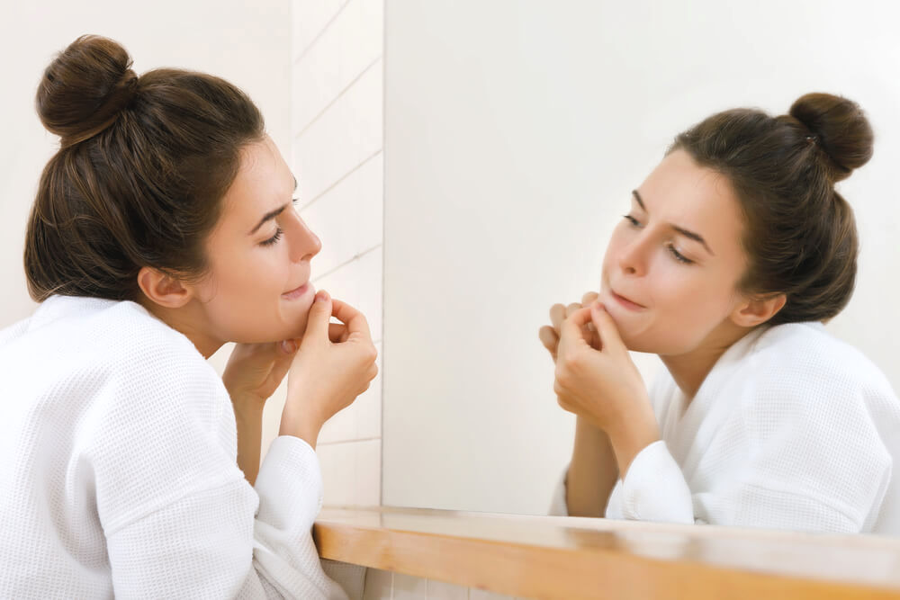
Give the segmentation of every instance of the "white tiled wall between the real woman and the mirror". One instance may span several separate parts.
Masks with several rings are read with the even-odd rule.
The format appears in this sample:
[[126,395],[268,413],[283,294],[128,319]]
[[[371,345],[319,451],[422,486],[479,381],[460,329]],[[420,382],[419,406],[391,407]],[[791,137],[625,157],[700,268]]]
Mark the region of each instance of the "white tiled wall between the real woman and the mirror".
[[[365,314],[379,357],[384,1],[292,0],[291,157],[301,216],[322,239],[313,283]],[[322,429],[317,452],[327,505],[381,504],[381,381]],[[280,413],[283,397],[279,390],[266,410]],[[275,434],[266,428],[265,447]],[[378,569],[368,569],[365,580],[366,599],[509,597]]]

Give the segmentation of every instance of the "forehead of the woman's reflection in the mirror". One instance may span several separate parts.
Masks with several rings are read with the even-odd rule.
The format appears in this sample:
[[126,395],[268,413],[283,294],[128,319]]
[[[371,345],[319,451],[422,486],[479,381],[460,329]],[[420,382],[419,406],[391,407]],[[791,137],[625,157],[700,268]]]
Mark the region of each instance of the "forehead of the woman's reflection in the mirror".
[[740,242],[743,215],[732,185],[684,150],[663,158],[639,192],[653,219],[697,232],[714,250]]

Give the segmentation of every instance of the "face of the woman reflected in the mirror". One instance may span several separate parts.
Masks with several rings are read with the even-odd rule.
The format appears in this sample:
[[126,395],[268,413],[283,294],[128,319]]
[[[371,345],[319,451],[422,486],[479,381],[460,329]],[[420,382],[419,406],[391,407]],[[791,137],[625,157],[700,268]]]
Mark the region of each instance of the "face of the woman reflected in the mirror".
[[743,216],[723,175],[684,150],[665,157],[632,195],[609,240],[600,300],[629,349],[686,354],[743,300]]

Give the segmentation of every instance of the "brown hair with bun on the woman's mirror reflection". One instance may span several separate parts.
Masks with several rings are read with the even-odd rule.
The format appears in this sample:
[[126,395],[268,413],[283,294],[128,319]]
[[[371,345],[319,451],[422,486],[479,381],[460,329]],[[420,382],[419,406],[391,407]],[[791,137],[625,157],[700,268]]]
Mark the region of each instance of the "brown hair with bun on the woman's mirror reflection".
[[769,324],[828,320],[850,300],[856,224],[834,184],[869,161],[872,144],[856,103],[806,94],[779,117],[751,109],[714,114],[669,149],[686,150],[733,185],[749,257],[739,287],[787,298]]

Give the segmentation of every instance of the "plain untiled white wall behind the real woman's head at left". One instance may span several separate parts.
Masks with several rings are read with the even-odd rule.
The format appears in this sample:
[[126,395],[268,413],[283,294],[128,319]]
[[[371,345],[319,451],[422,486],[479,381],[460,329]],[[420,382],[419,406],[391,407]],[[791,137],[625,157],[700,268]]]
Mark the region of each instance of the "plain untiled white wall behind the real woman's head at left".
[[58,148],[34,111],[34,94],[55,54],[84,33],[119,41],[142,73],[185,67],[229,79],[249,94],[289,156],[290,4],[94,0],[5,3],[0,55],[0,327],[31,313],[22,266],[25,226],[40,171]]

